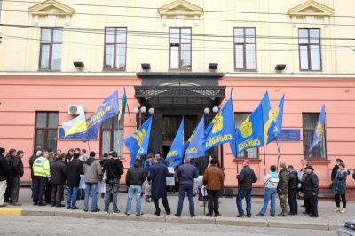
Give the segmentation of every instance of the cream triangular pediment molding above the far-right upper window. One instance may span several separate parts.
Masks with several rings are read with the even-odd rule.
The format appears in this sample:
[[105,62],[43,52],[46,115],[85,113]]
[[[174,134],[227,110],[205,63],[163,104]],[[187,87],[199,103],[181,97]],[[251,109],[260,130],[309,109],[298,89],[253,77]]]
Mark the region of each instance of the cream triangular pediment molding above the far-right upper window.
[[308,1],[288,10],[290,16],[332,16],[334,9],[316,1]]

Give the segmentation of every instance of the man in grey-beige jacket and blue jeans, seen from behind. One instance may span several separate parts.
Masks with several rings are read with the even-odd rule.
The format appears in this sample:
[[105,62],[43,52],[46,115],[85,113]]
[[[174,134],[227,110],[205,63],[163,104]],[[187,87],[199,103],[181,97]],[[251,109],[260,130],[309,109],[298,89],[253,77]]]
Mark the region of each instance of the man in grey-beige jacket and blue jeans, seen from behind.
[[83,211],[89,210],[89,193],[92,188],[91,212],[99,211],[98,208],[98,180],[102,181],[102,169],[99,161],[95,160],[95,152],[90,152],[89,159],[83,162],[85,174],[85,200]]

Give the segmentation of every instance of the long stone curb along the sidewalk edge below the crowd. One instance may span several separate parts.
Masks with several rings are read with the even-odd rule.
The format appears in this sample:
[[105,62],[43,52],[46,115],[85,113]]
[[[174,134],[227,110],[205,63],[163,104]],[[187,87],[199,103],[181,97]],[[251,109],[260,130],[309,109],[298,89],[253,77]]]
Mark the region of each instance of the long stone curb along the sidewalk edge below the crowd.
[[91,219],[106,219],[106,220],[120,220],[120,221],[144,221],[144,222],[158,222],[158,223],[177,223],[177,224],[218,224],[227,226],[241,226],[241,227],[260,227],[260,228],[288,228],[288,229],[303,229],[303,230],[320,230],[320,231],[336,231],[339,228],[337,224],[325,223],[307,223],[307,222],[289,222],[272,219],[253,219],[233,217],[207,217],[195,216],[154,216],[152,214],[145,214],[143,216],[126,216],[112,215],[91,212],[79,211],[57,211],[57,210],[28,210],[22,208],[3,208],[0,209],[0,215],[4,216],[59,216],[59,217],[75,217],[75,218],[91,218]]

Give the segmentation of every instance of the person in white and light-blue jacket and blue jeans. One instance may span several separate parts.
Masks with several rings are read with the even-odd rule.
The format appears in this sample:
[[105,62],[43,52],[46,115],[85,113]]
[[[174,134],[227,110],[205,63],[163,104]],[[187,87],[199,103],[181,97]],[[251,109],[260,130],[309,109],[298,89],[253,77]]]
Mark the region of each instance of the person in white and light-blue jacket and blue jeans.
[[264,193],[264,206],[260,210],[259,214],[256,216],[265,216],[265,212],[267,209],[267,205],[269,204],[269,201],[271,200],[271,208],[270,208],[270,216],[274,217],[275,216],[275,210],[276,210],[276,205],[275,205],[275,199],[276,199],[276,193],[277,193],[277,185],[279,183],[279,175],[276,173],[276,166],[272,165],[270,167],[271,172],[268,173],[263,180],[263,184],[265,185],[265,193]]

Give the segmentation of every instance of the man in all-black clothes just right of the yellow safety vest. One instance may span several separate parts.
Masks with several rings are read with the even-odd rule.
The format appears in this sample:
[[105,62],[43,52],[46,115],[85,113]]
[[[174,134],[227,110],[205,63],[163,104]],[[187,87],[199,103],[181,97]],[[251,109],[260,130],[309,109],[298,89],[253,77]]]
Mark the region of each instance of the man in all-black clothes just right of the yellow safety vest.
[[65,155],[60,154],[58,161],[51,164],[51,207],[65,207],[61,204],[61,195],[64,191],[67,177],[67,163]]

